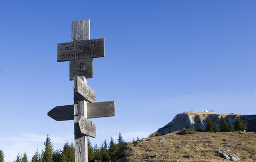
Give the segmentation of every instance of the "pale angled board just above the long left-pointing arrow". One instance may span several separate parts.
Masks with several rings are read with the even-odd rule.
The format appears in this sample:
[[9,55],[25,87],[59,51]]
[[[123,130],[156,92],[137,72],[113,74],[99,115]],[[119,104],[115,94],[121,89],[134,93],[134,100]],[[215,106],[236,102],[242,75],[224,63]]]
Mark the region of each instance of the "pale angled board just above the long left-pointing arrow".
[[74,84],[74,89],[76,93],[81,95],[84,98],[84,100],[89,101],[90,103],[95,103],[95,92],[89,86],[87,86],[87,84],[81,78],[75,76]]

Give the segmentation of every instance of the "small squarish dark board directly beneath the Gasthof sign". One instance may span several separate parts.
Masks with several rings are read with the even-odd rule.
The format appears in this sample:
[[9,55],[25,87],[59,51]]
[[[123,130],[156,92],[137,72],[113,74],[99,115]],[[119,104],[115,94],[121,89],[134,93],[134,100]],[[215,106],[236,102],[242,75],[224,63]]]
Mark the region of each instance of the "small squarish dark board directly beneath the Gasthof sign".
[[77,59],[69,62],[69,80],[74,80],[75,76],[93,77],[92,59]]

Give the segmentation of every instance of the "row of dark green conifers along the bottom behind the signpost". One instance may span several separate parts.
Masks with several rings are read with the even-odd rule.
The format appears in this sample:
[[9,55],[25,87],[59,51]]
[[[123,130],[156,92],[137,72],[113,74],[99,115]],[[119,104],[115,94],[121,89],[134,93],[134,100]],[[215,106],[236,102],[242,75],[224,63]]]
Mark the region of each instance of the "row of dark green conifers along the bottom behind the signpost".
[[[109,143],[107,143],[105,139],[100,147],[98,147],[97,144],[92,147],[88,139],[88,161],[109,162],[114,156],[124,157],[126,144],[121,133],[118,135],[117,143],[115,143],[111,137]],[[2,150],[0,150],[0,162],[4,162],[4,152]],[[14,162],[75,162],[74,144],[66,142],[62,150],[53,150],[51,139],[49,135],[47,135],[44,142],[44,149],[41,153],[37,149],[31,160],[28,159],[26,153],[22,155],[18,154]]]

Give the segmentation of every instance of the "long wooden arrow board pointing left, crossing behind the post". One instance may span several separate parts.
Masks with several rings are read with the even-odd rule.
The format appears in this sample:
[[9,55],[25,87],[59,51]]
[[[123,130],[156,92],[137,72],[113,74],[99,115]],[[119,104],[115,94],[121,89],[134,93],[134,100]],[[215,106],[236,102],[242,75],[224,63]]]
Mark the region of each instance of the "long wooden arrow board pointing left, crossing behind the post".
[[[74,105],[56,106],[48,112],[55,121],[74,120]],[[115,116],[115,102],[87,103],[87,118]]]

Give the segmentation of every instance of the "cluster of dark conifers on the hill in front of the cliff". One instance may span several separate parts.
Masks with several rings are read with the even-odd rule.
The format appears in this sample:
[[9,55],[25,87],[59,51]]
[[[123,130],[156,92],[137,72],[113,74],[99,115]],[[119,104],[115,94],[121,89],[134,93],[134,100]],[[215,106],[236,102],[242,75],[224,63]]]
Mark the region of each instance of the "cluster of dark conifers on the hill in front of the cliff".
[[[234,131],[244,131],[247,130],[247,126],[241,118],[236,118],[235,127],[230,121],[226,121],[225,118],[221,116],[220,118],[220,129],[216,123],[216,121],[212,121],[209,117],[206,118],[206,132],[234,132]],[[199,123],[197,123],[197,131],[202,132]]]

